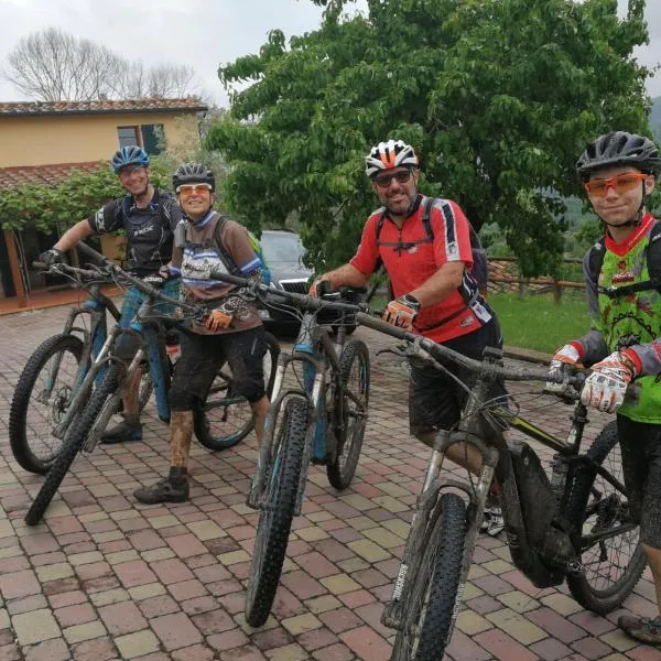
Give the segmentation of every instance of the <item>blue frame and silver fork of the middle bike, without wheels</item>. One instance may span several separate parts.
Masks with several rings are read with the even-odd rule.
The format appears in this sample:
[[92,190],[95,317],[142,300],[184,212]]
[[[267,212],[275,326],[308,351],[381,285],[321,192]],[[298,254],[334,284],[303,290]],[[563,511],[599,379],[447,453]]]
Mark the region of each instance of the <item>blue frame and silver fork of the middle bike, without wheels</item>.
[[[281,351],[278,358],[278,368],[273,381],[271,405],[264,421],[264,437],[260,447],[254,479],[252,481],[247,502],[250,507],[263,508],[264,487],[267,484],[267,468],[270,465],[269,455],[273,442],[273,434],[278,422],[278,412],[282,402],[291,395],[304,397],[308,402],[310,418],[305,433],[305,448],[303,451],[303,466],[299,478],[299,488],[294,514],[301,513],[303,495],[307,472],[312,460],[319,464],[332,463],[335,459],[337,446],[328,447],[327,425],[330,419],[333,429],[342,433],[344,415],[344,383],[339,371],[339,355],[344,347],[346,329],[338,329],[337,348],[328,330],[316,323],[316,314],[305,313],[301,323],[299,337],[292,351]],[[303,388],[283,388],[284,375],[290,364],[303,364]],[[328,367],[330,368],[328,370]],[[333,408],[326,408],[326,393],[328,389],[334,393]],[[318,460],[313,457],[319,457]],[[321,458],[321,455],[324,458]]]

